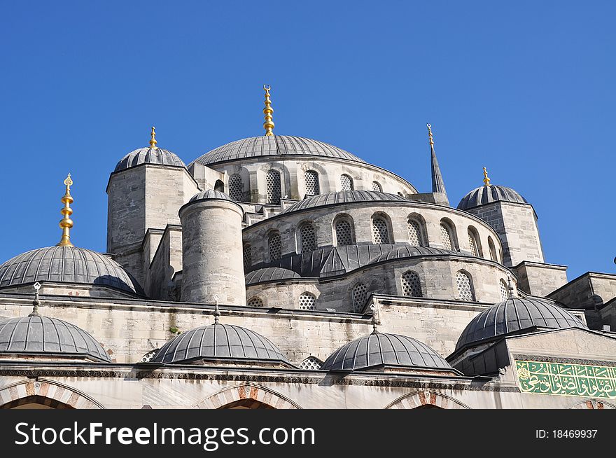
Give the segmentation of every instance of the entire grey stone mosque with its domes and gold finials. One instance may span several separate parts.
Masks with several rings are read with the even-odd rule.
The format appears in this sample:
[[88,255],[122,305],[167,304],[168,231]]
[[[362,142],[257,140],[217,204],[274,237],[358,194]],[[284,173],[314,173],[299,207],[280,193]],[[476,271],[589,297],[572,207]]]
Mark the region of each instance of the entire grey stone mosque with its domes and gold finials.
[[264,135],[119,160],[106,253],[66,178],[59,243],[0,265],[1,408],[616,407],[616,275],[569,280],[485,168],[452,206],[430,125],[420,192],[264,89]]

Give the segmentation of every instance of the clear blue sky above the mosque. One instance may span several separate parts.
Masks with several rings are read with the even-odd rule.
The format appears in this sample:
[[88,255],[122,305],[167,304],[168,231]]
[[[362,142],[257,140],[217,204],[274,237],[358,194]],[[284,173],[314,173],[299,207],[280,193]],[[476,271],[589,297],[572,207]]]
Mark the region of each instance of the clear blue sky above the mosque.
[[482,184],[535,206],[547,262],[615,272],[616,4],[609,1],[0,2],[0,259],[105,251],[109,173],[134,148],[188,163],[262,133],[327,141],[454,206]]

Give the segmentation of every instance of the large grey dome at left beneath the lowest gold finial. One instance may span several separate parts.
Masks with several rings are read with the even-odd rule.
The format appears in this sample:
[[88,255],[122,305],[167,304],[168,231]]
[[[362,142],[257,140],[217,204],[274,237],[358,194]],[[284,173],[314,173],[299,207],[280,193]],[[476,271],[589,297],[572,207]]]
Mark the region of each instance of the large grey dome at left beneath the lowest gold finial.
[[0,288],[34,282],[93,284],[144,295],[137,280],[116,261],[78,247],[38,248],[0,265]]

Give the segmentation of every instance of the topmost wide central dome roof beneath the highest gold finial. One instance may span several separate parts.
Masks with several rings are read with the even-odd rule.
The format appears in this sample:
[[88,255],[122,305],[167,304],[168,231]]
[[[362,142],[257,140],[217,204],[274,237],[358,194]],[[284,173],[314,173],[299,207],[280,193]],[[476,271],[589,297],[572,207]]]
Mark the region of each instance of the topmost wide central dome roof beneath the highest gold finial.
[[365,163],[365,161],[349,153],[349,151],[323,143],[323,141],[290,137],[288,135],[264,135],[232,141],[226,145],[214,148],[200,158],[195,159],[194,162],[212,165],[220,162],[266,156],[318,156],[321,158],[344,159]]

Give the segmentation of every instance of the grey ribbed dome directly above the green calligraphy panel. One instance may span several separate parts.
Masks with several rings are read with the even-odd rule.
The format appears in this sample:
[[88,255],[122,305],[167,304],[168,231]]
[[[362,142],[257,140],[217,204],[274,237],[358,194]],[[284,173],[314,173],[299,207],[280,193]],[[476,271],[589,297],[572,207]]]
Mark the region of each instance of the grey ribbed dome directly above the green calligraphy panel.
[[462,331],[456,351],[499,335],[535,328],[586,328],[582,321],[556,303],[538,298],[511,298],[494,304],[470,321]]

